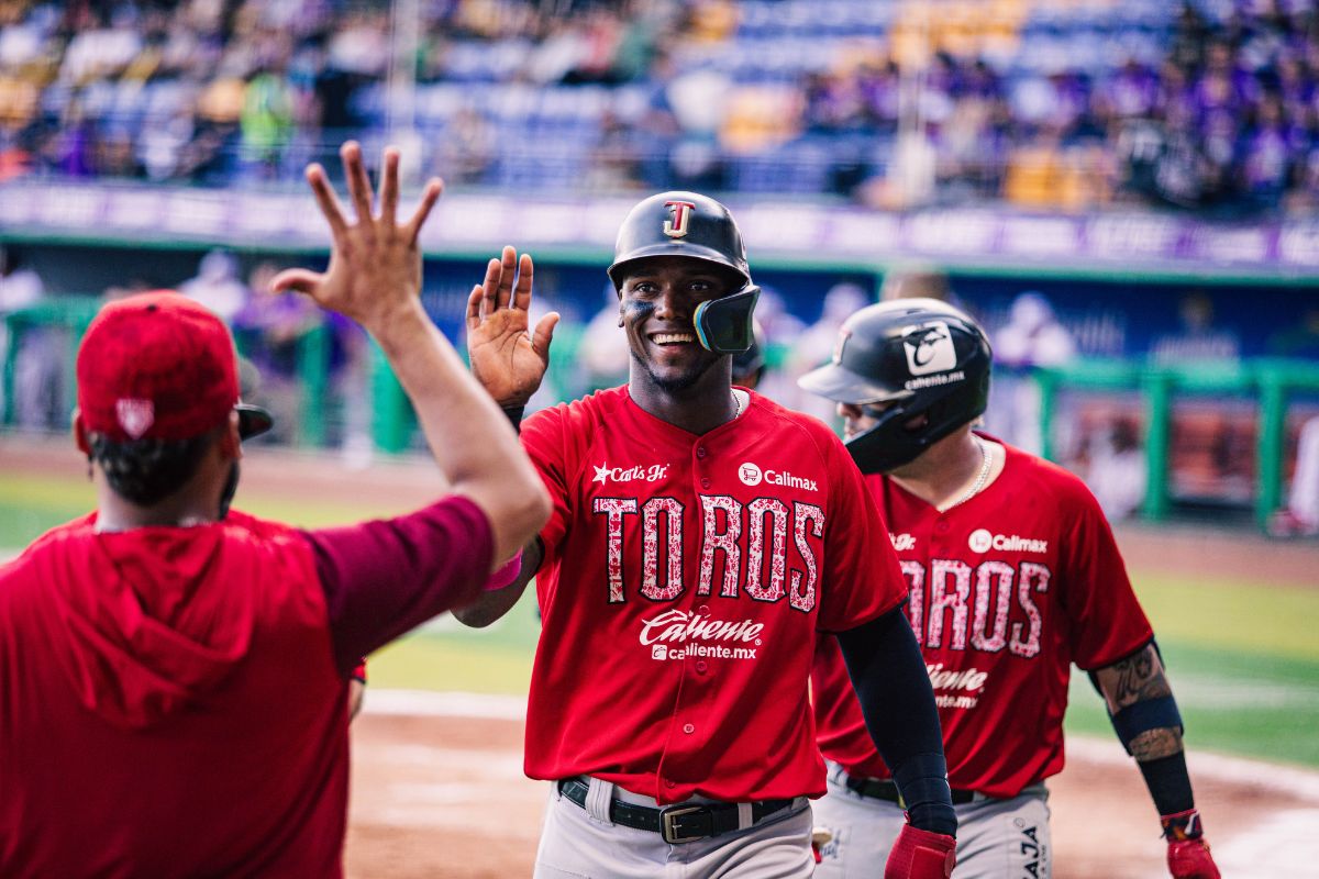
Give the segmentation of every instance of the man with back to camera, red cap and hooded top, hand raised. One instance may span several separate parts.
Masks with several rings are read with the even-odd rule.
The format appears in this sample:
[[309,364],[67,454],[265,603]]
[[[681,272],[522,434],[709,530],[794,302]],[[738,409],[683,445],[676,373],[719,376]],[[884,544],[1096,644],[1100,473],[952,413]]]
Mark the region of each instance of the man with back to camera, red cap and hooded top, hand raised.
[[0,567],[0,875],[339,876],[357,658],[481,589],[549,515],[536,470],[421,307],[417,235],[439,196],[359,220],[319,166],[324,274],[276,279],[380,343],[448,481],[388,521],[302,531],[230,501],[241,440],[233,340],[187,297],[102,308],[78,351],[78,448],[96,511]]

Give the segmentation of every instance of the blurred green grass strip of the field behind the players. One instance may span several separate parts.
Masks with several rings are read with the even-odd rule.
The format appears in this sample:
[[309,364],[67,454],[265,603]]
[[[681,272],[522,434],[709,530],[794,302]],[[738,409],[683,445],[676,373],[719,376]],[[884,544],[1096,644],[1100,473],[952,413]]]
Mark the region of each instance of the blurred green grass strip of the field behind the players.
[[[262,517],[318,526],[388,513],[357,506],[293,503],[240,489],[239,506]],[[0,548],[18,548],[53,525],[91,509],[79,478],[0,474]],[[1225,579],[1192,580],[1132,572],[1169,666],[1187,725],[1187,743],[1319,766],[1319,589]],[[373,687],[525,693],[539,622],[532,596],[485,630],[451,618],[371,658]],[[1074,676],[1067,729],[1112,735],[1103,702]]]

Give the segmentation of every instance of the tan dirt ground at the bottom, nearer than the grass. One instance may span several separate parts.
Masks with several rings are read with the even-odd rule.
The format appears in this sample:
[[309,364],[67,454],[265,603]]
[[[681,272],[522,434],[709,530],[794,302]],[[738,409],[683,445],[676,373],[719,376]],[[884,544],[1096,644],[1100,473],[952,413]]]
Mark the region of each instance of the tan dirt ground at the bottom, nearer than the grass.
[[[352,879],[528,876],[547,785],[521,772],[522,722],[458,696],[372,693],[353,725]],[[435,704],[429,716],[409,714]],[[501,713],[521,710],[517,700]],[[1196,800],[1231,879],[1315,875],[1319,774],[1192,754]],[[1055,879],[1166,876],[1140,774],[1117,742],[1072,742],[1050,783]]]

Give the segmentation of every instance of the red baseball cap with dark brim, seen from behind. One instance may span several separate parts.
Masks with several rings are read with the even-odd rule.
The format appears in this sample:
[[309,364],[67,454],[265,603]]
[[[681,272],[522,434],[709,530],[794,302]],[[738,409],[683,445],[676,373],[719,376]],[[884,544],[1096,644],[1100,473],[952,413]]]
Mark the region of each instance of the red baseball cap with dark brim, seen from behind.
[[78,410],[88,432],[117,443],[200,436],[233,410],[243,439],[272,424],[264,409],[239,403],[228,328],[173,290],[100,310],[78,347]]

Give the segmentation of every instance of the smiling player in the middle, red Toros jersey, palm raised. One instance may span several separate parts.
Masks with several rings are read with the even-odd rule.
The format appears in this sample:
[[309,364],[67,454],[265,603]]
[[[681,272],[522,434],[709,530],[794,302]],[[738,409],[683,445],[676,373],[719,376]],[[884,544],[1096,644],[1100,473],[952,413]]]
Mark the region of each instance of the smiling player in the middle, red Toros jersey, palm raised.
[[[528,332],[532,273],[505,248],[467,311],[472,370],[514,419],[557,319]],[[609,277],[628,383],[522,424],[554,514],[513,586],[455,611],[488,625],[537,577],[526,774],[554,785],[536,875],[809,876],[824,766],[807,681],[832,631],[910,803],[871,867],[947,876],[933,693],[874,505],[824,424],[729,381],[758,295],[736,223],[703,195],[650,196]]]

